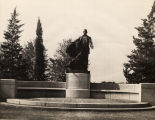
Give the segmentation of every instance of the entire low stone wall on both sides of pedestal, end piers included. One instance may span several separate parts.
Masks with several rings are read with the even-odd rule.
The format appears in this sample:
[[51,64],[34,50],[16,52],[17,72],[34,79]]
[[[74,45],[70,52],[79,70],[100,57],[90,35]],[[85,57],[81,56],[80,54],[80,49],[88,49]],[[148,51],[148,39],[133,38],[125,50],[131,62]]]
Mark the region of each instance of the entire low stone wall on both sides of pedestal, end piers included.
[[[1,98],[65,97],[65,82],[0,80]],[[155,105],[155,83],[91,83],[90,97],[126,99]]]

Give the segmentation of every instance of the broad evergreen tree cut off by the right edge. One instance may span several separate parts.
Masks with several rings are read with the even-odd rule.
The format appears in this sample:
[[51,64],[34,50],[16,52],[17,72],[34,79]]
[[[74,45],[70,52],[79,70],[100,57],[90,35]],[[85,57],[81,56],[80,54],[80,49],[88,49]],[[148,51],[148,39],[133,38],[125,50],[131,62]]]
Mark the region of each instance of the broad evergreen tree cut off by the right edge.
[[148,17],[142,21],[142,26],[136,27],[138,37],[133,37],[136,49],[124,64],[128,83],[155,83],[155,2]]

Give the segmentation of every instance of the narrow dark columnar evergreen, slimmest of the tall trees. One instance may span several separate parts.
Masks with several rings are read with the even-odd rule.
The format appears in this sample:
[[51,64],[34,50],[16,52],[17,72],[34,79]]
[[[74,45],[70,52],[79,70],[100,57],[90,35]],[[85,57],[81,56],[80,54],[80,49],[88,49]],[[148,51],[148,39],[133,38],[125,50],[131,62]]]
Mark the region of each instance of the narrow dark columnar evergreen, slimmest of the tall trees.
[[42,26],[40,19],[38,19],[37,30],[36,30],[36,39],[35,39],[35,64],[34,64],[34,77],[35,80],[45,80],[45,47],[43,45],[42,38]]

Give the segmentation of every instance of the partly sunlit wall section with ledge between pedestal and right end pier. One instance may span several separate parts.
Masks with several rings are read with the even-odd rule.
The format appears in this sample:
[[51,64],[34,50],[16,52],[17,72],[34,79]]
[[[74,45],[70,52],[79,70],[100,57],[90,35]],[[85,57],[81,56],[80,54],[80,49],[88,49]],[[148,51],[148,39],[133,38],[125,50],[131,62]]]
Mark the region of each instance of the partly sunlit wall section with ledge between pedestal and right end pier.
[[141,101],[140,84],[92,83],[91,98]]

